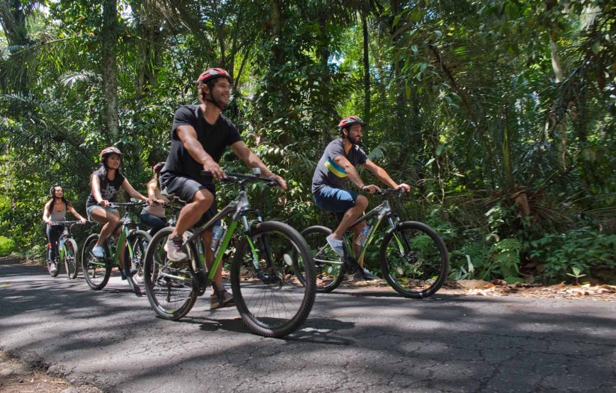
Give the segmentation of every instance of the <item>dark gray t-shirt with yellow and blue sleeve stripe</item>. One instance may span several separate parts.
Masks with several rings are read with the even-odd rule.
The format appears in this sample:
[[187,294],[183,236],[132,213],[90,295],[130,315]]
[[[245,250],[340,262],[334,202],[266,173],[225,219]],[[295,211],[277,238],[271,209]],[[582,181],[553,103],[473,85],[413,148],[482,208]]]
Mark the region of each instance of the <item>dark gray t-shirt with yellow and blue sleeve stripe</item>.
[[316,193],[316,191],[325,186],[345,188],[348,173],[340,165],[336,164],[336,161],[333,161],[338,156],[348,159],[353,166],[363,165],[368,159],[368,156],[357,144],[353,144],[348,154],[345,154],[343,139],[333,139],[325,148],[319,164],[316,164],[316,169],[314,169],[314,175],[312,176],[313,193]]

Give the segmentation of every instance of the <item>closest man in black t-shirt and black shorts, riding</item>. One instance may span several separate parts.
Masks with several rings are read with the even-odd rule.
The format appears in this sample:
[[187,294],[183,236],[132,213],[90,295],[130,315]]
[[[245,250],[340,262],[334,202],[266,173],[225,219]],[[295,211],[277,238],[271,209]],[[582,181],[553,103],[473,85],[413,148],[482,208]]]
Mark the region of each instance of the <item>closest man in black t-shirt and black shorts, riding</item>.
[[[224,171],[218,165],[227,146],[246,163],[247,166],[261,168],[263,176],[273,178],[280,186],[287,184],[272,173],[249,147],[242,142],[239,131],[222,110],[229,103],[231,95],[231,76],[221,68],[205,70],[196,81],[198,106],[186,105],[176,110],[171,128],[171,149],[165,166],[161,170],[161,190],[164,194],[175,195],[186,205],[181,210],[176,228],[167,241],[167,256],[170,261],[184,261],[188,257],[182,250],[182,236],[186,230],[199,220],[209,220],[217,213],[215,204],[216,188],[214,178],[224,178]],[[210,176],[201,171],[211,173]],[[212,232],[203,233],[205,258],[209,267],[214,254],[209,244]],[[214,284],[222,290],[222,264],[214,276]],[[222,307],[232,300],[224,292],[224,300],[212,295],[210,308]]]

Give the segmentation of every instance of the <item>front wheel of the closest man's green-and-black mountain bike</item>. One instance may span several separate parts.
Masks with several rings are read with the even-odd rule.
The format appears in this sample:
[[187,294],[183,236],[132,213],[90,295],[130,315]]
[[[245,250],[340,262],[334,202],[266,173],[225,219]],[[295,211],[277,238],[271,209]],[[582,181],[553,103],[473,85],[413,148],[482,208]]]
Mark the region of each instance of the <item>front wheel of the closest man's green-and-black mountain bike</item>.
[[[294,260],[295,259],[295,260]],[[314,261],[302,235],[282,222],[262,222],[236,245],[233,299],[251,331],[282,337],[304,323],[316,293]]]

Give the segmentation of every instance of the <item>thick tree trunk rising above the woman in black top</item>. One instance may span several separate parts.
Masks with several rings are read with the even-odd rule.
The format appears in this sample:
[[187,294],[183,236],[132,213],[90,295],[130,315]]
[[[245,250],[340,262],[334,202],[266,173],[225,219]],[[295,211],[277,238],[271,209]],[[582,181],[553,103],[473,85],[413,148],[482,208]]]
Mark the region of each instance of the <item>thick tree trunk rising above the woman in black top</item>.
[[118,4],[103,2],[103,98],[105,100],[105,129],[110,142],[118,141]]

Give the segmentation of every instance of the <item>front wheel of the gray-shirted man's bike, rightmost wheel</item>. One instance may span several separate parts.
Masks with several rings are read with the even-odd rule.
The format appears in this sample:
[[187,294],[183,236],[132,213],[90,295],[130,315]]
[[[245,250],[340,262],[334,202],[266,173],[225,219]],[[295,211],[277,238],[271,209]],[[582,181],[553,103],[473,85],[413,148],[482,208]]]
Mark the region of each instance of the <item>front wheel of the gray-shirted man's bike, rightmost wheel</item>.
[[421,299],[443,286],[449,270],[447,246],[434,229],[415,221],[389,230],[380,250],[385,279],[404,297]]

